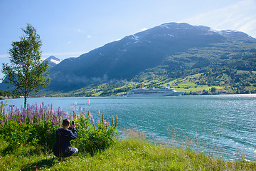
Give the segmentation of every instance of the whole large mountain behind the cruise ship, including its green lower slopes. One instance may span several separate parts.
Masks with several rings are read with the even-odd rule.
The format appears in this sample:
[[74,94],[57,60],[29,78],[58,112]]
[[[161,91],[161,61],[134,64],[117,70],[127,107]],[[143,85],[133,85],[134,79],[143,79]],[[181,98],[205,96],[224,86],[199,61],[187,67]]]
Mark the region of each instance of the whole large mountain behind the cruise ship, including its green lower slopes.
[[240,31],[161,24],[65,59],[49,76],[50,86],[38,95],[124,95],[138,83],[188,94],[256,93],[256,39]]

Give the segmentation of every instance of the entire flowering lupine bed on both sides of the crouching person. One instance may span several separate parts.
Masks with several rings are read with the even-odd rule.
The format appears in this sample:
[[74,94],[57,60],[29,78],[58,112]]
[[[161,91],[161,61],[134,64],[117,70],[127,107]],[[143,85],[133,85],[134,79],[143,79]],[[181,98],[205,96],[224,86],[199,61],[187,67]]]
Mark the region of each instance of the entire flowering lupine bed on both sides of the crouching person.
[[7,111],[4,105],[1,103],[0,108],[0,138],[9,142],[13,149],[30,144],[38,149],[51,151],[55,142],[55,131],[62,127],[63,118],[75,120],[78,138],[73,143],[80,152],[90,152],[94,155],[114,142],[117,116],[115,123],[113,118],[110,125],[108,120],[103,120],[102,114],[102,120],[97,123],[96,128],[92,115],[88,112],[88,117],[85,117],[84,110],[76,113],[75,106],[69,115],[61,108],[54,112],[53,106],[50,105],[28,105],[26,109],[9,108]]

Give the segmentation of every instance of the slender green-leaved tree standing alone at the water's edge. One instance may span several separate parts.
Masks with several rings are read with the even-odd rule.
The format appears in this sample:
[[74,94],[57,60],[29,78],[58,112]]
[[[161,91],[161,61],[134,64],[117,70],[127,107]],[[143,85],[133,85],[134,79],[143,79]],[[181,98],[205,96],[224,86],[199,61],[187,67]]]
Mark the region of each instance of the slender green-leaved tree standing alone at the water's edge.
[[5,82],[11,83],[15,92],[24,95],[24,106],[28,95],[43,87],[48,86],[50,80],[47,78],[48,63],[41,61],[41,39],[36,29],[27,24],[21,41],[14,41],[9,50],[10,61],[3,63],[2,72],[6,76]]

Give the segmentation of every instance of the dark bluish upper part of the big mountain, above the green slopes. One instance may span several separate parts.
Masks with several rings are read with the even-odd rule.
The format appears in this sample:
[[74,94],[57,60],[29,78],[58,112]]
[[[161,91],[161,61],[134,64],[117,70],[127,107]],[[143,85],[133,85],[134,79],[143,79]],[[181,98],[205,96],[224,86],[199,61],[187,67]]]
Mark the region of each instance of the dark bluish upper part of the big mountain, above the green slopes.
[[179,71],[222,63],[225,56],[243,53],[255,44],[255,38],[240,31],[162,24],[62,61],[50,70],[48,88],[68,92],[95,83],[131,81],[157,66],[175,78]]

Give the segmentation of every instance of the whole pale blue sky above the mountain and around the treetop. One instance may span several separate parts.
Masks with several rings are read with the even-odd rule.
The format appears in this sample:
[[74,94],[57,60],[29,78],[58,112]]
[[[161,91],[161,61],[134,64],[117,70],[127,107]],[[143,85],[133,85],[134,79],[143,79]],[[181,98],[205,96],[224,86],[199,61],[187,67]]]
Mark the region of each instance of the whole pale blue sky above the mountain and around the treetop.
[[256,38],[255,0],[0,0],[0,63],[31,24],[43,58],[78,57],[169,22],[243,31]]

